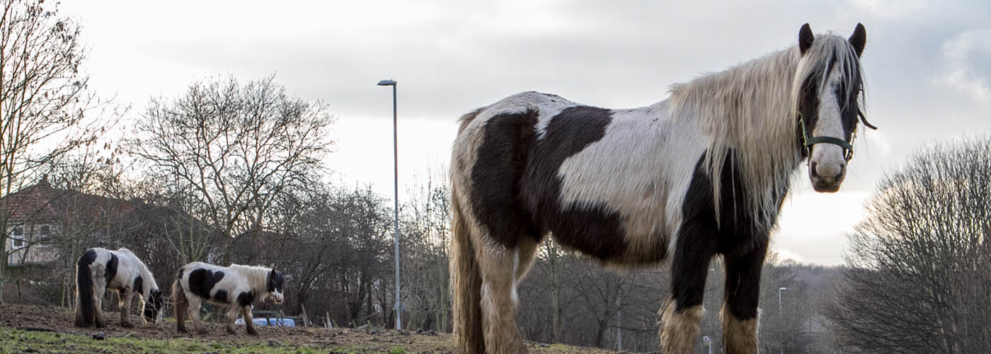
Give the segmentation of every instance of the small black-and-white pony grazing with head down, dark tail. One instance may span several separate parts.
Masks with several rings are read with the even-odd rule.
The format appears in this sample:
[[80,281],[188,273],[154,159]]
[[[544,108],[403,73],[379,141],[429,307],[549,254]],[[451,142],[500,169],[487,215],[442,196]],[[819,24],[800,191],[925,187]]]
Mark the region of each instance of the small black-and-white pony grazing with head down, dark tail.
[[126,248],[117,251],[90,248],[76,262],[75,325],[97,328],[107,326],[103,320],[103,295],[117,292],[121,308],[121,326],[131,324],[131,298],[141,302],[142,324],[158,322],[164,298],[155,276],[138,257]]

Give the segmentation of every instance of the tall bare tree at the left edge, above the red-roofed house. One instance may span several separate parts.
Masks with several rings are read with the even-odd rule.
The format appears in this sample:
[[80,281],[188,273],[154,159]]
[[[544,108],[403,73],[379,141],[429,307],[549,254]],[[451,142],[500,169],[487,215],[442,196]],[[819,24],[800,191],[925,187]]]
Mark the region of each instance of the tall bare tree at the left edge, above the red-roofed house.
[[[95,142],[109,122],[87,115],[105,105],[87,91],[89,77],[80,72],[86,56],[78,24],[59,15],[57,3],[3,0],[2,6],[0,194],[7,195],[36,179],[40,167]],[[7,215],[0,215],[4,259]],[[0,262],[0,279],[5,266]]]

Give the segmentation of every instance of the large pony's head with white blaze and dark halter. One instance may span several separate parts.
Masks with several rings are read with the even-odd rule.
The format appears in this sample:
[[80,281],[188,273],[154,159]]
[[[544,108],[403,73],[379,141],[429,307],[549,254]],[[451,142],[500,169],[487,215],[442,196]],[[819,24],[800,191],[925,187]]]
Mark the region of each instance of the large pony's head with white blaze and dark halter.
[[799,30],[802,58],[792,85],[792,99],[797,105],[799,144],[803,157],[809,159],[809,178],[816,191],[839,190],[846,177],[846,163],[853,157],[858,120],[876,129],[860,110],[860,55],[866,40],[861,24],[848,39],[816,37],[809,24]]

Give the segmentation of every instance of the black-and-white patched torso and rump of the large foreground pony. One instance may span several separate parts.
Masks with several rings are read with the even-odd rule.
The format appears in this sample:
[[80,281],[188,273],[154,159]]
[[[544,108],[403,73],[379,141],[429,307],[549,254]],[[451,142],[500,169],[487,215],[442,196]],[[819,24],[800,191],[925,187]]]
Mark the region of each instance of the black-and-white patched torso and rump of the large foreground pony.
[[684,189],[671,180],[695,165],[673,147],[701,154],[677,125],[666,102],[614,110],[552,94],[512,95],[462,118],[454,197],[506,247],[549,231],[602,260],[657,262],[677,219],[667,210],[672,189]]

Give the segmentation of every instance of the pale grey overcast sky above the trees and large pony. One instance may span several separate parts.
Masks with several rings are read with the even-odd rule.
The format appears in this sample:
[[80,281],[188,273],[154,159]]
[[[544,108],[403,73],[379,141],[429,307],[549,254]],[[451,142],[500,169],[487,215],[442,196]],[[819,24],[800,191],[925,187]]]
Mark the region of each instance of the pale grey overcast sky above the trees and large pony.
[[[527,90],[606,108],[649,105],[668,86],[817,34],[867,29],[868,119],[842,189],[797,178],[772,248],[843,262],[844,234],[884,172],[936,142],[991,131],[991,2],[979,1],[69,1],[101,95],[141,113],[193,81],[275,73],[338,117],[335,181],[391,195],[391,92],[399,178],[446,167],[455,120]],[[803,171],[803,174],[805,172]],[[400,185],[400,190],[408,184]],[[400,192],[400,198],[402,197]]]

